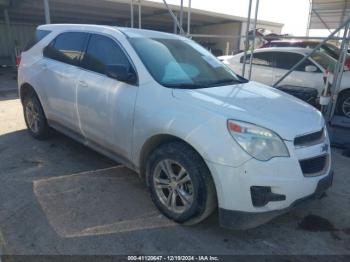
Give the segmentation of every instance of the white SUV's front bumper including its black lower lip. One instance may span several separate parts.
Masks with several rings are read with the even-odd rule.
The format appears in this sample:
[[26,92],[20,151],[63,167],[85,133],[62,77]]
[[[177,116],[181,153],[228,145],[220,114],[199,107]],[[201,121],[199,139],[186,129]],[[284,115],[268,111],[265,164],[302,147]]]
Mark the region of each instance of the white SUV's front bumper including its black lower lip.
[[[324,143],[308,147],[295,148],[291,142],[286,142],[286,145],[290,157],[276,157],[265,162],[252,158],[236,167],[207,161],[216,186],[223,226],[257,226],[286,212],[304,199],[315,198],[319,191],[324,191],[322,185],[327,183],[320,181],[328,181],[328,177],[332,177],[328,139]],[[308,168],[305,168],[302,160],[325,154],[327,164],[322,171],[311,175],[304,172]],[[310,163],[314,164],[313,161]],[[261,194],[263,198],[259,199]],[[251,219],[252,222],[247,221],[247,216],[254,217],[258,214],[259,217]],[[229,222],[228,217],[232,217],[232,222]],[[245,227],[242,225],[244,221]],[[235,224],[237,226],[234,226]]]

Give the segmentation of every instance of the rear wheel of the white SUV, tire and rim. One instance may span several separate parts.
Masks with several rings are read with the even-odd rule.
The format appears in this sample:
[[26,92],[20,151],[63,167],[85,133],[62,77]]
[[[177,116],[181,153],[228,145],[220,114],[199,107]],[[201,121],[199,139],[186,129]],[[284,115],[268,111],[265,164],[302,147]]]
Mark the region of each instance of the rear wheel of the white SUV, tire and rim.
[[23,113],[29,133],[38,140],[48,138],[50,127],[47,124],[41,103],[34,92],[30,92],[24,97]]

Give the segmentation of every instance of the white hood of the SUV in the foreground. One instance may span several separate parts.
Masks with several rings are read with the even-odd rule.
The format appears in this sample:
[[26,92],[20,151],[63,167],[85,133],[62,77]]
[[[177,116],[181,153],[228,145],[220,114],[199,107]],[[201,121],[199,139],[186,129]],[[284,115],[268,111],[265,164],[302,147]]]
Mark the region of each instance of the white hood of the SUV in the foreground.
[[305,102],[256,82],[203,89],[174,89],[173,96],[227,119],[253,123],[285,140],[319,131],[322,114]]

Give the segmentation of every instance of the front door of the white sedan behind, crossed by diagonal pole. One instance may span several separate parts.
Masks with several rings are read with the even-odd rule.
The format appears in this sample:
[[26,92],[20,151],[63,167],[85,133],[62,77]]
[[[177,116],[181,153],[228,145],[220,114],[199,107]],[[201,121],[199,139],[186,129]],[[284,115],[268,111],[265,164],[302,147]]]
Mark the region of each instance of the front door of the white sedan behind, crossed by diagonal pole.
[[[294,65],[296,65],[304,56],[293,52],[274,52],[274,83],[285,75]],[[306,72],[306,66],[315,66],[317,71]],[[323,74],[321,70],[309,59],[298,66],[289,76],[287,76],[279,86],[291,85],[315,88],[319,92],[323,89]]]

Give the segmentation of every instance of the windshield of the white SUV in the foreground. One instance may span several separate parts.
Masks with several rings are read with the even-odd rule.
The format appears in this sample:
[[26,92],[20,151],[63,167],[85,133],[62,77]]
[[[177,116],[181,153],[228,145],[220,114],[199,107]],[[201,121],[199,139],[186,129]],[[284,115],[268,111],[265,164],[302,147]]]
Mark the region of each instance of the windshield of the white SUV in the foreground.
[[131,38],[142,62],[163,86],[204,88],[247,82],[191,40]]

